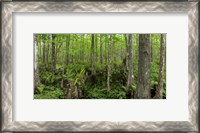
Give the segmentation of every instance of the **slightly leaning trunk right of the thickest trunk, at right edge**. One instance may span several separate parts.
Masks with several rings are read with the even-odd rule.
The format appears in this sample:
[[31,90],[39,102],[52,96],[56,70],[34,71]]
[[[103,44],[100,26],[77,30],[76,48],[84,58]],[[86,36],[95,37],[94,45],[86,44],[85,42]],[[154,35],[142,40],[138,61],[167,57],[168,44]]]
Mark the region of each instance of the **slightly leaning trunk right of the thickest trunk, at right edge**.
[[154,96],[154,98],[158,98],[158,99],[162,99],[162,97],[163,97],[164,62],[165,62],[165,35],[161,34],[158,86],[157,86],[157,89],[156,89],[156,95]]

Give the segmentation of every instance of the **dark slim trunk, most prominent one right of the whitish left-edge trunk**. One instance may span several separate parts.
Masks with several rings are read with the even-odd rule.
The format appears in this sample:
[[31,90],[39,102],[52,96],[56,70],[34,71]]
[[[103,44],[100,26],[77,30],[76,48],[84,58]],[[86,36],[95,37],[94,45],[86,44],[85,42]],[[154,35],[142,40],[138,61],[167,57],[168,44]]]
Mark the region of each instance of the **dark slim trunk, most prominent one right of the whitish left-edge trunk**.
[[56,70],[56,45],[55,45],[56,35],[52,34],[52,72]]

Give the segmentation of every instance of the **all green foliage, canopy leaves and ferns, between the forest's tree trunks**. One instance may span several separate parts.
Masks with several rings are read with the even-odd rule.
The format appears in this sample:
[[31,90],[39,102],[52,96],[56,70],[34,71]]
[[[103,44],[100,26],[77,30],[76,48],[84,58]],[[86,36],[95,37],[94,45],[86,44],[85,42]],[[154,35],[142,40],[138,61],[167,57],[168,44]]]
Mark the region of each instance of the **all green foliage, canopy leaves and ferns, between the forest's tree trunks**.
[[[83,99],[127,99],[128,71],[122,70],[123,59],[126,57],[126,44],[124,34],[95,35],[94,59],[95,74],[92,75],[91,66],[91,34],[56,34],[52,40],[50,34],[38,34],[38,69],[41,84],[35,90],[35,99],[63,99],[69,89],[78,88],[82,91]],[[70,41],[69,41],[70,40]],[[100,63],[100,40],[102,40],[103,63]],[[108,47],[111,41],[111,72],[110,92],[107,93],[107,61]],[[56,45],[56,70],[52,71],[51,43]],[[69,51],[66,46],[69,43]],[[158,85],[160,34],[151,34],[153,60],[151,62],[150,87],[155,92]],[[45,46],[46,53],[43,53]],[[133,34],[133,83],[130,90],[135,93],[138,82],[138,47],[139,35]],[[97,49],[96,49],[97,48]],[[48,60],[43,61],[43,55]],[[66,57],[69,54],[69,63]],[[83,57],[84,56],[84,57]],[[62,85],[61,85],[62,84]],[[163,78],[163,96],[166,97],[166,69]]]

